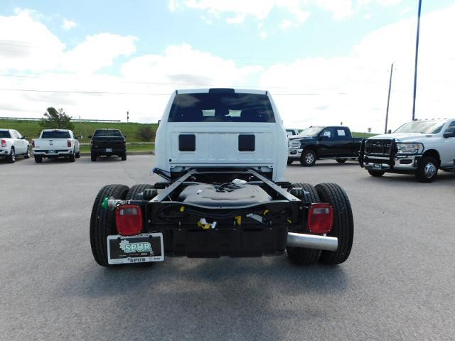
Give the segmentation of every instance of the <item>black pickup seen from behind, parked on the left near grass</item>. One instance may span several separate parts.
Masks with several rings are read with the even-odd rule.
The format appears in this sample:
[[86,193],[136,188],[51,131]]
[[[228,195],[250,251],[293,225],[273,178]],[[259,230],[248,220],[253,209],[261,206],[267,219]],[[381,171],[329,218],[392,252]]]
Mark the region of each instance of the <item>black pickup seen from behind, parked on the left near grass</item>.
[[98,156],[117,155],[122,161],[127,160],[127,136],[122,135],[119,129],[96,129],[93,136],[88,136],[92,161]]

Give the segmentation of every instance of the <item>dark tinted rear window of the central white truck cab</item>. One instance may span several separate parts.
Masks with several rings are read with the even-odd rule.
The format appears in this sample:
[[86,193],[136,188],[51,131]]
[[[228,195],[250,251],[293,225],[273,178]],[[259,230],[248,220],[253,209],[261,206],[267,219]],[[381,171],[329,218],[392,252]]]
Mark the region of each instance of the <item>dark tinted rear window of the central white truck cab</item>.
[[169,122],[274,122],[265,94],[176,94]]

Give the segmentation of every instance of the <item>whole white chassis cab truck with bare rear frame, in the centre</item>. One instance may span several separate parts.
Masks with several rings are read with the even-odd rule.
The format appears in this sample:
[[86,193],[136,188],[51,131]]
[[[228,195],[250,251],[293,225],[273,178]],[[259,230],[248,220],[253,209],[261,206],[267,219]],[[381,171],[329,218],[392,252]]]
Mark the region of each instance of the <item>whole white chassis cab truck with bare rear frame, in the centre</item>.
[[161,182],[106,185],[95,198],[90,243],[101,266],[166,256],[348,259],[348,196],[333,183],[284,179],[287,136],[269,92],[173,92],[156,134],[155,166]]

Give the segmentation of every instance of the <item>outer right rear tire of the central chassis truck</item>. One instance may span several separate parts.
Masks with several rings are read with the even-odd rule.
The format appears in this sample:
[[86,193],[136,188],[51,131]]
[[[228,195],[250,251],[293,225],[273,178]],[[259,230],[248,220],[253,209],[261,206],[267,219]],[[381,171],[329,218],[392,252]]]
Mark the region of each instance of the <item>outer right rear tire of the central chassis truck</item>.
[[333,227],[327,235],[338,238],[336,251],[322,251],[319,261],[323,264],[341,264],[348,259],[354,239],[353,211],[348,195],[336,183],[320,183],[316,191],[321,202],[328,202],[333,207]]

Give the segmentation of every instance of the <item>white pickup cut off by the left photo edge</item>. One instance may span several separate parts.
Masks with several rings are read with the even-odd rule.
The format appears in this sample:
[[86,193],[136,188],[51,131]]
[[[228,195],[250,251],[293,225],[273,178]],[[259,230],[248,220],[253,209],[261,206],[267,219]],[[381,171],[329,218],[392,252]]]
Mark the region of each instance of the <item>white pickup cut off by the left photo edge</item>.
[[17,156],[30,158],[30,145],[27,136],[14,129],[0,129],[0,158],[14,163]]

